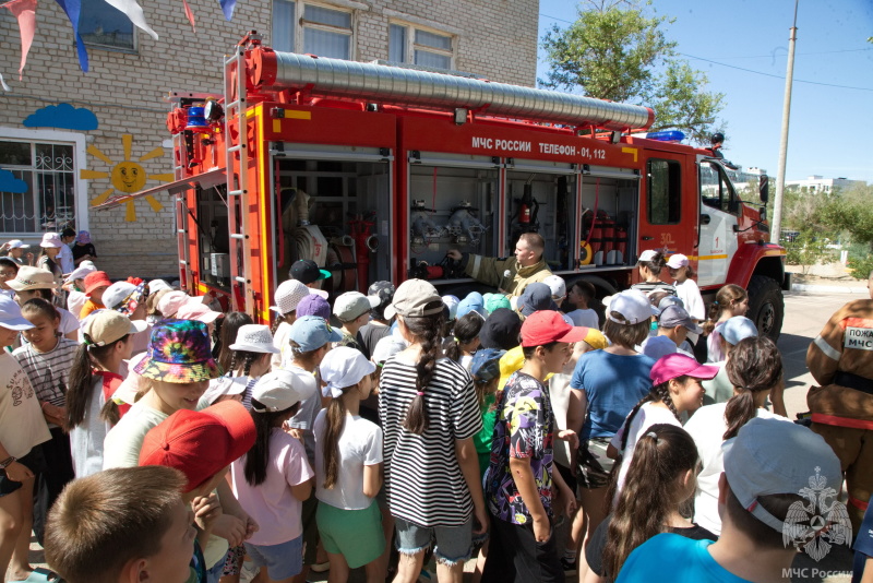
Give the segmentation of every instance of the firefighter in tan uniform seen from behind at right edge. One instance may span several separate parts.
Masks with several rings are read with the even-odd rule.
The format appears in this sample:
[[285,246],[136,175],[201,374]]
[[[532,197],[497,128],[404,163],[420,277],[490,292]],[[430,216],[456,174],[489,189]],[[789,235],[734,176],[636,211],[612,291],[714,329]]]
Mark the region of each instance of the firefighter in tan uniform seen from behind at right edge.
[[812,429],[830,444],[846,472],[854,532],[873,493],[873,273],[868,287],[871,299],[840,308],[806,350],[806,366],[822,385],[806,395]]

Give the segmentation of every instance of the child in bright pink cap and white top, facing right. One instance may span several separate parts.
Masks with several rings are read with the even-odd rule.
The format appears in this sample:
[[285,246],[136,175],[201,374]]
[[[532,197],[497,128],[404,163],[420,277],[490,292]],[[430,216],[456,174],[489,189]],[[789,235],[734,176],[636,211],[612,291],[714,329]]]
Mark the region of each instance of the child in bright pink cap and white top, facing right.
[[[618,480],[611,484],[613,496],[618,500],[624,487],[627,468],[634,456],[634,448],[639,438],[656,424],[668,424],[682,427],[681,415],[694,413],[703,405],[704,390],[702,380],[710,380],[718,374],[718,367],[707,367],[690,356],[668,354],[651,367],[651,391],[631,409],[624,425],[612,437],[607,452],[620,464]],[[614,468],[613,468],[614,473]]]

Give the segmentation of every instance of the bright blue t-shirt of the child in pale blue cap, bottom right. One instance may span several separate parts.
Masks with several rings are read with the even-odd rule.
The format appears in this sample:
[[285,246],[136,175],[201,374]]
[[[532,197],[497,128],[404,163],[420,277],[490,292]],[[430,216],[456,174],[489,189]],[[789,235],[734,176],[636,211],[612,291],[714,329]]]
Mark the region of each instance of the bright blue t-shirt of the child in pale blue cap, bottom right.
[[654,536],[631,552],[615,583],[749,583],[716,562],[711,544],[671,533]]

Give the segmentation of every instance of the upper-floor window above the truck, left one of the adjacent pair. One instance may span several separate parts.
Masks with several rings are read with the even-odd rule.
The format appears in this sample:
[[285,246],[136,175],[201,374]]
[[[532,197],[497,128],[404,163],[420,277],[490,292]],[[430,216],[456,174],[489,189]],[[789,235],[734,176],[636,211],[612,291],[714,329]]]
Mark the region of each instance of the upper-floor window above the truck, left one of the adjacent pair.
[[273,0],[275,50],[352,59],[352,24],[348,10],[299,0]]

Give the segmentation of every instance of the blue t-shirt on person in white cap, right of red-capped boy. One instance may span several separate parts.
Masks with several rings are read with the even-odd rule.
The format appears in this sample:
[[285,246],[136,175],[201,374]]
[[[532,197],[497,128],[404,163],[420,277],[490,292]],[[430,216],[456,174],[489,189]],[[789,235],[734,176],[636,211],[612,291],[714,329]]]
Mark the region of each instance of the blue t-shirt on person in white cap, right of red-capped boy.
[[614,436],[627,414],[651,390],[648,373],[655,360],[646,355],[585,353],[576,362],[570,386],[584,390],[588,413],[579,439]]

